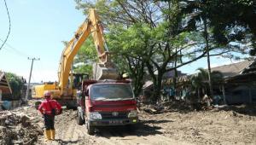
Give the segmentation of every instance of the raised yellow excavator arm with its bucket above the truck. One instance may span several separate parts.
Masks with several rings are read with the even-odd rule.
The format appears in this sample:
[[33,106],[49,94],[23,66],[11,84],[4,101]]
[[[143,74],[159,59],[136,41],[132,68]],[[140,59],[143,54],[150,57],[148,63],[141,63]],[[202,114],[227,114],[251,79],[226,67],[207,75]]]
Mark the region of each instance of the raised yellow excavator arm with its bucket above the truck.
[[97,55],[99,57],[99,62],[94,65],[93,69],[94,78],[118,78],[118,73],[113,63],[109,60],[108,47],[103,37],[103,28],[99,15],[96,14],[95,9],[90,9],[87,20],[79,26],[74,37],[69,41],[61,54],[61,62],[58,71],[58,86],[61,89],[61,95],[67,95],[68,93],[68,77],[73,64],[73,58],[77,55],[80,47],[84,44],[84,41],[89,37],[90,33],[94,40]]

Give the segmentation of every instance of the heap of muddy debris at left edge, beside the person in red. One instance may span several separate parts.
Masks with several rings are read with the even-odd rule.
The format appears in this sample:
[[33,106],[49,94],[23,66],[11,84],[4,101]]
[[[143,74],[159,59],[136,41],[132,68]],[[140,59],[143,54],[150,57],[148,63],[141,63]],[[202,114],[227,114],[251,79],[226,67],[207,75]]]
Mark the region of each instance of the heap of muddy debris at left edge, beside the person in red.
[[0,144],[33,144],[43,129],[36,124],[40,120],[32,113],[26,113],[31,107],[15,111],[0,112]]

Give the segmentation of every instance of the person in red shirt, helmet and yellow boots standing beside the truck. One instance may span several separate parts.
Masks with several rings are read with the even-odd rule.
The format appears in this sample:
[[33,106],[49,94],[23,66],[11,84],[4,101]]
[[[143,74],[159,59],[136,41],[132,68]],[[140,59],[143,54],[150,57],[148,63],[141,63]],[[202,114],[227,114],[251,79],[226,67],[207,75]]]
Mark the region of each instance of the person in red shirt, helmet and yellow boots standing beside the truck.
[[38,107],[44,115],[45,141],[55,140],[55,115],[62,112],[61,104],[51,99],[49,91],[44,92],[44,102]]

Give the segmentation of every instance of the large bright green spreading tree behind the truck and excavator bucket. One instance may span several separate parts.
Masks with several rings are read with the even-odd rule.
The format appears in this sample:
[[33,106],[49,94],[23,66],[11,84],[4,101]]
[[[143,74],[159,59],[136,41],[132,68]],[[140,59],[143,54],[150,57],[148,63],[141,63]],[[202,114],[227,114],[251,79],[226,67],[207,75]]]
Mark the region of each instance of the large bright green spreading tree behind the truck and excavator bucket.
[[[182,60],[182,56],[189,58],[199,52],[188,50],[188,42],[196,37],[191,35],[192,32],[182,31],[183,16],[180,16],[177,1],[160,5],[134,0],[76,2],[77,8],[84,12],[90,8],[97,9],[108,30],[106,38],[113,61],[119,70],[131,74],[135,86],[143,84],[144,67],[148,68],[154,81],[155,96],[159,96],[163,74],[174,69],[166,69],[167,65],[177,61],[177,58]],[[83,54],[86,55],[86,52]],[[156,70],[157,75],[154,74]]]

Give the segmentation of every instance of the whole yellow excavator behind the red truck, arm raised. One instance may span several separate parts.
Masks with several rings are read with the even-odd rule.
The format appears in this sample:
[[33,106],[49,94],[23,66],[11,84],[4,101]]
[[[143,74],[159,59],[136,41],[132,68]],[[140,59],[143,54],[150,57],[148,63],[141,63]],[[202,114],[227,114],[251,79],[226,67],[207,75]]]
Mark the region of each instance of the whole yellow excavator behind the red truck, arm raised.
[[[103,37],[103,27],[99,15],[95,9],[90,9],[88,18],[79,26],[74,37],[69,41],[61,54],[61,61],[58,71],[59,82],[44,83],[32,88],[32,98],[42,99],[44,91],[49,90],[55,100],[67,107],[76,107],[77,91],[81,88],[81,81],[89,78],[87,74],[73,73],[71,68],[73,58],[77,55],[79,48],[84,44],[86,38],[92,35],[98,62],[93,65],[93,79],[117,79],[119,73],[110,60],[108,46]],[[37,106],[37,104],[36,104]]]

